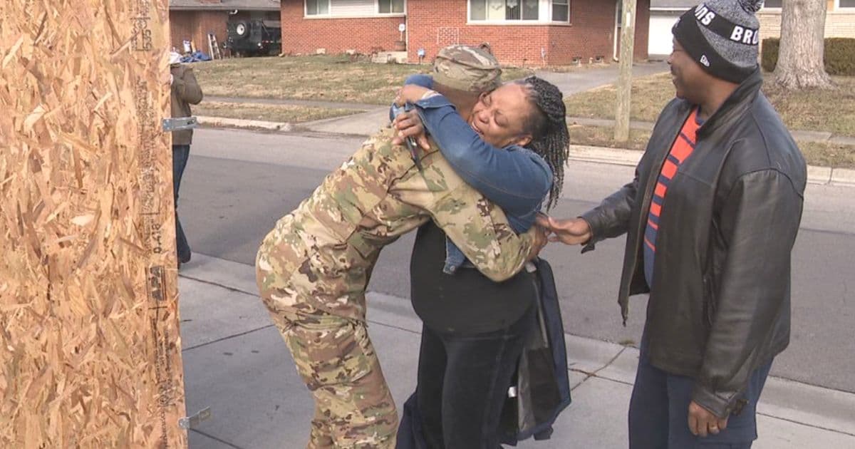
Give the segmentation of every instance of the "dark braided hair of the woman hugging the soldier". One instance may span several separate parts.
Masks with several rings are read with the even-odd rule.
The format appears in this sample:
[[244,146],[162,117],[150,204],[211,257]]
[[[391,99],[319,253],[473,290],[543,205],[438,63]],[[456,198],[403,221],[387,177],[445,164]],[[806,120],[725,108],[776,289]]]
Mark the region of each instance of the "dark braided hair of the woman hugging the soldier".
[[528,88],[528,100],[537,106],[534,114],[528,115],[523,127],[532,135],[532,141],[526,147],[543,157],[552,169],[552,186],[546,202],[546,209],[550,210],[557,204],[561,194],[564,164],[569,157],[567,109],[564,107],[563,94],[549,81],[529,76],[517,82]]

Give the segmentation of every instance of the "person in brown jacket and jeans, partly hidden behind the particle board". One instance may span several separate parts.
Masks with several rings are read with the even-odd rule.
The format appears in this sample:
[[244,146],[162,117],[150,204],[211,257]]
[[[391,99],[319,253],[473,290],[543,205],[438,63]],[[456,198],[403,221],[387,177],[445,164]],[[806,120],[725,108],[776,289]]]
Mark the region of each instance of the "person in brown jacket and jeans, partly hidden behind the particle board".
[[[191,104],[202,101],[202,89],[193,75],[193,69],[180,63],[180,55],[172,52],[169,55],[169,82],[171,84],[171,113],[172,117],[189,117],[192,115]],[[178,250],[178,263],[190,262],[190,245],[184,235],[184,229],[178,219],[178,189],[181,186],[181,176],[190,157],[190,144],[193,139],[192,129],[182,129],[172,132],[172,180],[173,196],[175,199],[175,247]]]

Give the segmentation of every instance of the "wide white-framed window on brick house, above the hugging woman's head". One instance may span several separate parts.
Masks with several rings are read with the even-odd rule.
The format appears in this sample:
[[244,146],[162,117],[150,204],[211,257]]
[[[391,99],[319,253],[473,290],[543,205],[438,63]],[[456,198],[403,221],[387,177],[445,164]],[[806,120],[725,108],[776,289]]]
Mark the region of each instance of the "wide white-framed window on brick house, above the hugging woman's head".
[[569,0],[469,0],[469,21],[569,21]]

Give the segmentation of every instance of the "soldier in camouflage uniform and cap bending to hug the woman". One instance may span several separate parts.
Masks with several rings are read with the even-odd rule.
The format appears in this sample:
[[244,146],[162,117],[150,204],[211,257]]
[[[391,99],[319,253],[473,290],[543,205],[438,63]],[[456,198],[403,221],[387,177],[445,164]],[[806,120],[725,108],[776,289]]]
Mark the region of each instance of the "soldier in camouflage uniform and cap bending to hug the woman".
[[[488,53],[440,55],[434,76],[474,94],[498,84]],[[394,135],[386,128],[368,139],[258,251],[262,300],[315,398],[310,448],[395,446],[397,413],[365,323],[365,289],[383,246],[433,219],[481,272],[503,281],[545,243],[536,228],[516,235],[435,145],[422,151],[420,171]]]

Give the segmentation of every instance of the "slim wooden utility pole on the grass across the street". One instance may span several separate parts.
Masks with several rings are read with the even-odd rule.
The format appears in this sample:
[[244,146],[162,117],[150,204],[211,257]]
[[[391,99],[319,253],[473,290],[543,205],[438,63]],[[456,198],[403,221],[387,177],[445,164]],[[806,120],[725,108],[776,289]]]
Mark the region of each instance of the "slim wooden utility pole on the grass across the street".
[[635,3],[622,0],[621,61],[617,78],[617,107],[615,112],[615,141],[629,140],[629,105],[633,84],[633,50],[635,46]]

